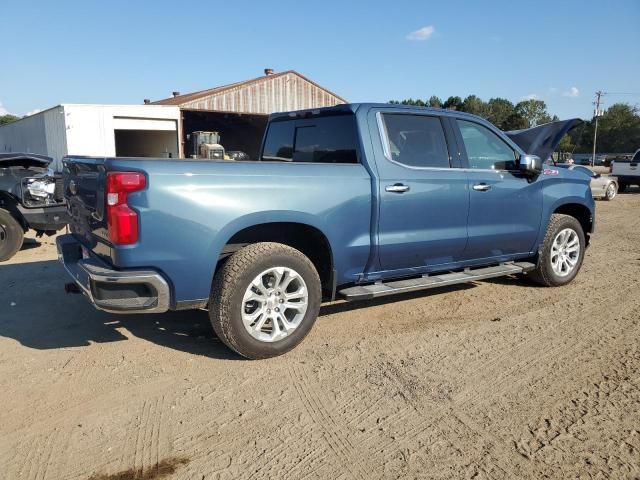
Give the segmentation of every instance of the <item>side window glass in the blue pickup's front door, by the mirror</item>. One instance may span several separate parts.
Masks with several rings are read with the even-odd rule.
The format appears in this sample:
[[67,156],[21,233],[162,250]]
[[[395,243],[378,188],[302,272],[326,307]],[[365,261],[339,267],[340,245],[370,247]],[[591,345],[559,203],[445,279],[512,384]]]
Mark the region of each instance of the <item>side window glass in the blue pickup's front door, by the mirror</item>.
[[474,122],[457,120],[470,168],[517,170],[516,152],[498,135]]

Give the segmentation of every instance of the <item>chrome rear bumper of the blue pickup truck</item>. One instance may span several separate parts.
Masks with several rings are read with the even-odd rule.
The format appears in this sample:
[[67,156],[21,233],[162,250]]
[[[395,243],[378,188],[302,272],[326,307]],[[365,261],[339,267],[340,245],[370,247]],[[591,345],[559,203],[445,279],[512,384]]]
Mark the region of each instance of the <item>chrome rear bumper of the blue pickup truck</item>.
[[114,270],[83,248],[73,235],[56,239],[58,259],[91,303],[111,313],[169,310],[169,284],[154,270]]

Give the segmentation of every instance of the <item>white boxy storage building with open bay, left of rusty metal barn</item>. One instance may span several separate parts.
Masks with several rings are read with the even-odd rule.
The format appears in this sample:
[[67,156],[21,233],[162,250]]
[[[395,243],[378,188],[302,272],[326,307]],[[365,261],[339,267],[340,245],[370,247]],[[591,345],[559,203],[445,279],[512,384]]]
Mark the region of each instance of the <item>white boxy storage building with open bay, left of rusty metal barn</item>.
[[180,108],[168,105],[63,104],[0,127],[0,152],[47,155],[183,156]]

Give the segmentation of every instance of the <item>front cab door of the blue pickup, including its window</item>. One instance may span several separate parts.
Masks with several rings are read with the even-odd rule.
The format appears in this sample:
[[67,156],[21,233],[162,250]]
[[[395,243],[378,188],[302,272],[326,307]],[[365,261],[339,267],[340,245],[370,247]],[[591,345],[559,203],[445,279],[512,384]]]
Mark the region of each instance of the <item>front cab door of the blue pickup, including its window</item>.
[[472,120],[451,120],[469,182],[465,260],[527,254],[542,218],[542,183],[517,170],[518,153],[502,136]]

